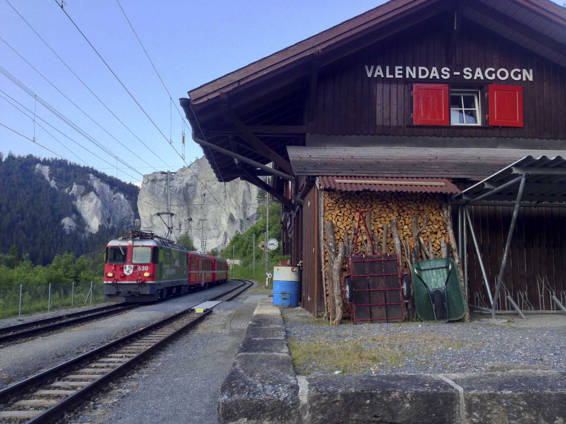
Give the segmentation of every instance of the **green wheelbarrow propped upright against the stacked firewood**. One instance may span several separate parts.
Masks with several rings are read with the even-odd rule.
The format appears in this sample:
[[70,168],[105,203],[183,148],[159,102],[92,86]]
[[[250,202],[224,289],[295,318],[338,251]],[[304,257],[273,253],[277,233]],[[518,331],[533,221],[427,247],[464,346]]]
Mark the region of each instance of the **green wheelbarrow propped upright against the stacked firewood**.
[[421,321],[457,321],[466,313],[456,262],[449,257],[449,243],[446,249],[447,258],[415,262],[411,267],[414,301]]

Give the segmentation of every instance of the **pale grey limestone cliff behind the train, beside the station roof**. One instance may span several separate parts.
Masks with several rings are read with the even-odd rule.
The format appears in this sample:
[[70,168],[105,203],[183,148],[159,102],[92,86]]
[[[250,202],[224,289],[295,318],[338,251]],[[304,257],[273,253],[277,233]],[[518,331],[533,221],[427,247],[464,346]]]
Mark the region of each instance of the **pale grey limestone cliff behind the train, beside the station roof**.
[[[204,157],[190,168],[171,174],[170,179],[171,212],[175,214],[171,239],[188,232],[197,249],[200,250],[200,241],[204,239],[205,251],[221,250],[234,233],[242,233],[254,223],[257,206],[243,204],[256,203],[259,189],[247,181],[219,182]],[[167,228],[156,213],[166,212],[167,205],[167,175],[160,172],[145,175],[138,197],[141,230],[165,236]],[[167,221],[166,216],[162,218]],[[204,237],[201,237],[200,219],[205,219]]]

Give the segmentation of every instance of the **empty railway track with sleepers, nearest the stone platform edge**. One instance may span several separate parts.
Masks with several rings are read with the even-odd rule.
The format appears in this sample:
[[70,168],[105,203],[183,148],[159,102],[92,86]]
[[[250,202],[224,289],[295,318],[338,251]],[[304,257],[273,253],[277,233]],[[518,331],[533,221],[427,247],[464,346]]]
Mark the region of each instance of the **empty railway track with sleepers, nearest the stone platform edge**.
[[[212,297],[229,301],[239,296],[252,283],[241,285]],[[197,313],[187,308],[150,326],[111,341],[70,361],[57,365],[0,390],[0,423],[49,423],[62,417],[105,384],[123,375],[144,361],[178,335],[196,326],[212,308]]]

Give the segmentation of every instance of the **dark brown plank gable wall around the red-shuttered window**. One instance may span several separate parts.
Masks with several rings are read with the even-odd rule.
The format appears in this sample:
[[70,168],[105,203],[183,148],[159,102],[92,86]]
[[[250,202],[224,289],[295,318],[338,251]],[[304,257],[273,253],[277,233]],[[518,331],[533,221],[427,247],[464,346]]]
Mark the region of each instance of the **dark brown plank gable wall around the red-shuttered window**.
[[[446,63],[447,22],[441,14],[357,51],[321,68],[316,92],[315,119],[310,133],[328,135],[399,135],[439,137],[525,137],[531,139],[566,138],[565,68],[524,49],[511,41],[462,19],[454,63]],[[424,66],[429,70],[448,66],[460,71],[449,79],[395,79],[368,77],[365,65]],[[533,69],[533,81],[465,80],[465,67]],[[405,69],[405,68],[404,68]],[[404,72],[405,76],[405,72]],[[504,84],[522,85],[524,127],[478,128],[411,126],[411,84]],[[487,99],[482,99],[486,115]]]

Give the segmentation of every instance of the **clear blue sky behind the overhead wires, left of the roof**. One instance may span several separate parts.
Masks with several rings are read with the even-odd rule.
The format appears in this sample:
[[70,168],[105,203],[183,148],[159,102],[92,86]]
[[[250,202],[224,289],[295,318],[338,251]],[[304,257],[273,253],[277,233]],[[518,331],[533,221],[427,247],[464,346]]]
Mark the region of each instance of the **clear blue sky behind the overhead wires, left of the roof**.
[[[53,86],[24,62],[3,41],[0,41],[0,66],[33,93],[49,103],[68,120],[83,129],[114,155],[142,174],[171,170],[184,165],[182,159],[149,122],[126,91],[114,79],[104,63],[65,16],[55,0],[8,0],[29,24],[45,39],[68,66],[92,91],[142,140],[145,148],[117,119],[99,103],[24,23],[6,0],[0,0],[0,37],[28,60],[53,85],[66,94],[103,129],[80,112]],[[151,64],[141,50],[115,0],[66,0],[65,10],[89,38],[102,57],[147,111],[157,126],[181,152],[181,116],[171,105]],[[352,2],[235,2],[177,1],[164,2],[121,0],[134,29],[160,72],[171,97],[178,105],[187,90],[260,59],[274,51],[323,31],[345,19],[358,15],[383,1]],[[35,126],[36,141],[53,152],[116,175],[116,159],[46,110],[33,96],[0,73],[0,90],[45,119],[61,133],[49,129],[62,144],[43,129]],[[5,96],[0,93],[1,96]],[[173,110],[172,114],[170,109]],[[179,110],[181,108],[179,107]],[[182,110],[181,110],[182,113]],[[171,118],[172,115],[172,118]],[[33,116],[33,114],[32,114]],[[34,123],[0,98],[0,123],[33,138]],[[170,130],[171,128],[171,130]],[[186,129],[186,160],[200,157],[200,148],[190,139]],[[80,146],[84,146],[92,153]],[[68,149],[68,150],[67,150]],[[138,155],[142,160],[135,157]],[[6,128],[0,127],[0,150],[16,154],[32,153],[41,157],[53,154],[34,145]],[[101,159],[97,158],[95,154]],[[79,159],[80,158],[80,159]],[[104,159],[104,160],[102,160]],[[106,162],[105,162],[106,161]],[[145,163],[145,162],[147,163]],[[149,165],[148,165],[149,164]],[[140,181],[141,176],[119,164],[118,177]],[[123,170],[122,168],[125,168]],[[129,174],[129,175],[127,175]]]

